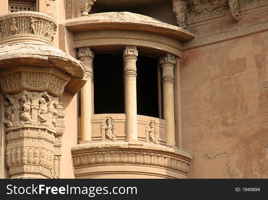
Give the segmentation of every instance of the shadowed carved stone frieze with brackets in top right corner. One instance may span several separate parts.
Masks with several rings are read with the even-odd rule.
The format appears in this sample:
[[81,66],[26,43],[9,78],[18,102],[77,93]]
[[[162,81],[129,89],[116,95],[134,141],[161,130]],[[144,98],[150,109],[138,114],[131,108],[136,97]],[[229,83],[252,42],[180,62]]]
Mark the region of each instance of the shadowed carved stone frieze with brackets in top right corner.
[[178,26],[186,29],[231,16],[239,21],[241,14],[248,12],[252,7],[262,9],[259,6],[261,4],[267,2],[265,0],[173,0],[173,12],[176,14]]

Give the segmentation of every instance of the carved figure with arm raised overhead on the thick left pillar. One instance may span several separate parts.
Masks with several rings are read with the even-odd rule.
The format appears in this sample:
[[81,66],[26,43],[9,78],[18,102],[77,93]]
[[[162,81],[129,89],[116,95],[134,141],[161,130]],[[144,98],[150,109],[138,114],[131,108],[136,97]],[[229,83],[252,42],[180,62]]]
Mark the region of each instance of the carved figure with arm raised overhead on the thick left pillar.
[[46,100],[41,97],[38,101],[39,104],[39,108],[37,110],[37,121],[38,121],[38,125],[41,126],[48,126],[48,121],[47,121],[47,113],[48,113],[48,105],[51,103],[51,98],[49,95],[45,94],[44,97],[47,97],[48,102],[46,102]]

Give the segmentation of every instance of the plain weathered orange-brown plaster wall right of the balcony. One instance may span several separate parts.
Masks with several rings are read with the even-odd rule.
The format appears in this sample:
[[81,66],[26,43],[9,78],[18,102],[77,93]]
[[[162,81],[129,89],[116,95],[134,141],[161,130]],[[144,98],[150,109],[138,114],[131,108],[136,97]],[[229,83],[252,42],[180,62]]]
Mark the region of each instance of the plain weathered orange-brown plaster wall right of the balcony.
[[185,50],[188,178],[268,178],[268,31]]

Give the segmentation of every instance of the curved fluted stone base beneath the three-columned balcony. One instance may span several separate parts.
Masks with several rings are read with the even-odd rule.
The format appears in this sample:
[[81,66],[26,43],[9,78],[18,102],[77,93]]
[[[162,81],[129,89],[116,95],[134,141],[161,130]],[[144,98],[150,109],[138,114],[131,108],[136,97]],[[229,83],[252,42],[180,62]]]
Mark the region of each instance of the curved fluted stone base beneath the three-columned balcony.
[[187,178],[192,156],[140,142],[101,142],[71,148],[76,178]]

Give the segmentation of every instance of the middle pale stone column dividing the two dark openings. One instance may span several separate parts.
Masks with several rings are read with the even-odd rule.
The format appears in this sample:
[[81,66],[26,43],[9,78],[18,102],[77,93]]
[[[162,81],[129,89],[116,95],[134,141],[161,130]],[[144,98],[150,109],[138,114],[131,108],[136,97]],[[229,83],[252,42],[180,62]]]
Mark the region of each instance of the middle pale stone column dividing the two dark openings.
[[125,61],[125,113],[127,141],[137,141],[137,94],[136,94],[136,61],[138,51],[136,47],[125,47],[123,58]]

